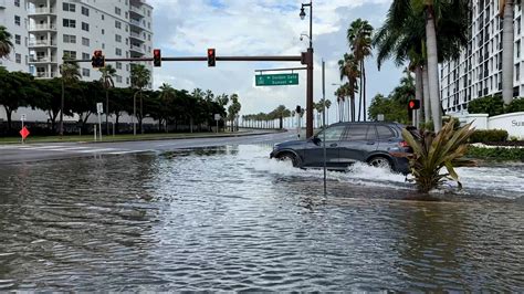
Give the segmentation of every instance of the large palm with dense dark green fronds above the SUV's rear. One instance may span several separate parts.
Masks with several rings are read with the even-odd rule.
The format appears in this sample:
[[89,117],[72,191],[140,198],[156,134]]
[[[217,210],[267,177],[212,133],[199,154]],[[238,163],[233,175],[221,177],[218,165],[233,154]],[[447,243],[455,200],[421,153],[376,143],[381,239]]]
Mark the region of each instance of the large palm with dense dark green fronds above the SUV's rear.
[[[430,98],[436,130],[442,127],[438,63],[458,59],[468,44],[470,10],[469,0],[394,0],[375,35],[378,64],[392,56],[397,65],[410,60],[410,67],[422,66],[422,81],[427,72],[428,95],[423,96]],[[427,109],[429,103],[425,105]]]

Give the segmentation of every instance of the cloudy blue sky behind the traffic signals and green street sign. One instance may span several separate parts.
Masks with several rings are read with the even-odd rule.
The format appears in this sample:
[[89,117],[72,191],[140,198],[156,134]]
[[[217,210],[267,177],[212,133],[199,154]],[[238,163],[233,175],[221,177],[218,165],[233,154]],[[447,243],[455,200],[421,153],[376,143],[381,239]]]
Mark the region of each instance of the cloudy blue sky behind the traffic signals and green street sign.
[[[310,11],[301,20],[300,0],[148,0],[154,7],[154,46],[163,56],[206,56],[208,48],[220,55],[300,55],[308,46]],[[336,119],[335,90],[340,83],[337,61],[349,51],[346,32],[358,18],[379,28],[391,0],[313,0],[314,99],[322,98],[322,60],[325,61],[326,98]],[[211,90],[214,94],[240,96],[240,115],[269,113],[283,104],[290,109],[305,106],[305,71],[296,86],[255,86],[255,70],[300,67],[298,62],[163,62],[154,69],[154,87]],[[399,82],[402,69],[391,62],[377,70],[375,59],[366,62],[368,105],[377,94],[388,94]],[[344,81],[345,82],[345,81]]]

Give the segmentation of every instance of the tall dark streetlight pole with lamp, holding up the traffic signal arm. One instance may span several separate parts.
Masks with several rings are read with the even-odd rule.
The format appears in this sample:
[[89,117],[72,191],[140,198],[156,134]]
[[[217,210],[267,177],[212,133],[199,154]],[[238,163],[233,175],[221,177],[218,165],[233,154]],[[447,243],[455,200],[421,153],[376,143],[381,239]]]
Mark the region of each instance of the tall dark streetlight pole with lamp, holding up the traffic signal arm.
[[310,48],[307,48],[307,88],[306,88],[306,137],[313,136],[313,0],[302,3],[302,20],[305,19],[305,9],[310,8]]

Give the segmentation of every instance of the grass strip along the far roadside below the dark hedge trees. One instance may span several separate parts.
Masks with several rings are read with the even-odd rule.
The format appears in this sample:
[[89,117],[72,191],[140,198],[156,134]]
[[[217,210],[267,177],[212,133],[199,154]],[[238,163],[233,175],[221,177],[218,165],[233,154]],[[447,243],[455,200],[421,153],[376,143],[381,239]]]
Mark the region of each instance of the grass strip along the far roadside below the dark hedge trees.
[[[190,139],[190,138],[213,138],[213,137],[238,137],[238,136],[253,136],[253,135],[263,135],[263,134],[272,134],[277,130],[240,130],[240,132],[227,132],[227,133],[176,133],[176,134],[137,134],[134,136],[133,134],[123,134],[123,135],[115,135],[115,136],[102,136],[102,140],[97,140],[96,143],[108,143],[108,141],[130,141],[130,140],[168,140],[168,139]],[[70,136],[34,136],[28,137],[25,139],[25,144],[33,144],[33,143],[80,143],[80,141],[90,141],[95,143],[93,139],[93,135],[88,136],[77,136],[77,135],[70,135]],[[0,144],[20,144],[21,138],[18,137],[3,137],[0,138]]]

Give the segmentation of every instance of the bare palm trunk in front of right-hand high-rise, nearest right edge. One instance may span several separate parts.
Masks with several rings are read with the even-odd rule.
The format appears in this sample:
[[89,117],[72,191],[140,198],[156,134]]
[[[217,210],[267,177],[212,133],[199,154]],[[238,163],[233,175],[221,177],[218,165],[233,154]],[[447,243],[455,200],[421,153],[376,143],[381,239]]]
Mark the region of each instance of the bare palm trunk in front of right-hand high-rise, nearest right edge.
[[513,0],[505,0],[504,22],[502,24],[502,98],[505,104],[513,101]]

